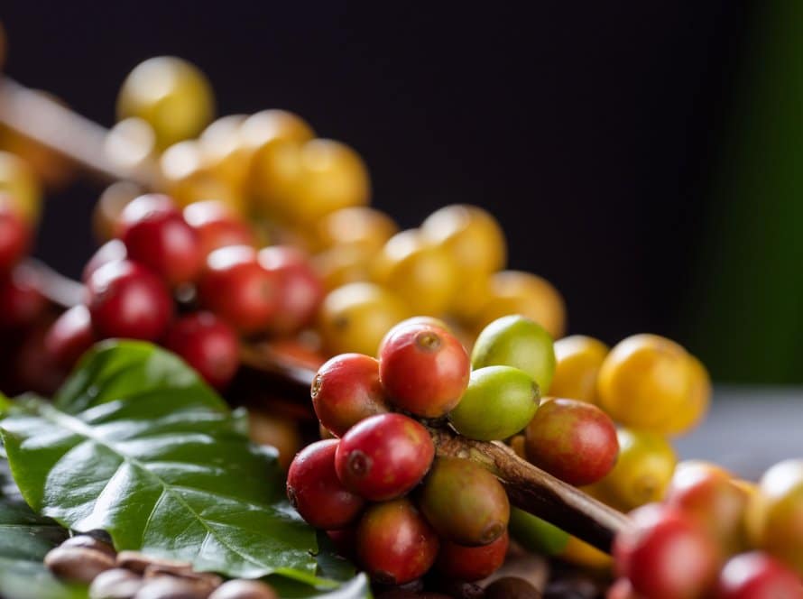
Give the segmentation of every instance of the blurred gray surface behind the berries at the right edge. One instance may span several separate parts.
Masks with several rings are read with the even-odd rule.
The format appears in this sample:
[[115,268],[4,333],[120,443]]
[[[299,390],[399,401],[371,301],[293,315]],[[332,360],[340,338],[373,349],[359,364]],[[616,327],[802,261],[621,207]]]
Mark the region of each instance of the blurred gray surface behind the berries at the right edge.
[[705,422],[674,445],[683,459],[756,480],[782,459],[803,458],[803,389],[717,387]]

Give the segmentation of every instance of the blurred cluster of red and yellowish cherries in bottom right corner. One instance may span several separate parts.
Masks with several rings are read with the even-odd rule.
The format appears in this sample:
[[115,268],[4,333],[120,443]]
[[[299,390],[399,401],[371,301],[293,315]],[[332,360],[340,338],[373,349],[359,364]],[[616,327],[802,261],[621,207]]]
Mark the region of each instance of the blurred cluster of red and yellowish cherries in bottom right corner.
[[803,462],[753,485],[718,466],[681,463],[666,500],[631,513],[614,542],[609,597],[803,597]]

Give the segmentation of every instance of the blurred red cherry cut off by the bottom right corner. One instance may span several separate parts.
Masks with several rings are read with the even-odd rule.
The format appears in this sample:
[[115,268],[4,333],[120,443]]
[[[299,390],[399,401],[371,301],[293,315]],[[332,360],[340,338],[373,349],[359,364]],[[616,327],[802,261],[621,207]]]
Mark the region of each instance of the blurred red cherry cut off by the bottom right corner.
[[761,551],[730,558],[719,574],[717,599],[803,599],[803,581]]

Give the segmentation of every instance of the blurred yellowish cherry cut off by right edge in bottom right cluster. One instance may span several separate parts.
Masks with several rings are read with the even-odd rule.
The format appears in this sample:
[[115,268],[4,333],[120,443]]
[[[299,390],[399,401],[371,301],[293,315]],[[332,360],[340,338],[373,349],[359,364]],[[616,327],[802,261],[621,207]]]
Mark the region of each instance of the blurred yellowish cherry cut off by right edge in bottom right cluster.
[[780,462],[761,476],[748,506],[747,529],[756,547],[803,576],[803,459]]

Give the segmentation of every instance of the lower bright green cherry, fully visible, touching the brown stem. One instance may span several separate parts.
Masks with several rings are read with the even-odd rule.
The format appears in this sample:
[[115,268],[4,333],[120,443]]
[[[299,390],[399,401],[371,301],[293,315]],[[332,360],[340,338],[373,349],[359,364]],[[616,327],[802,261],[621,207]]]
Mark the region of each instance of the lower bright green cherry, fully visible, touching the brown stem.
[[512,366],[486,366],[471,373],[449,420],[461,435],[493,441],[526,427],[539,403],[539,387],[529,374]]

